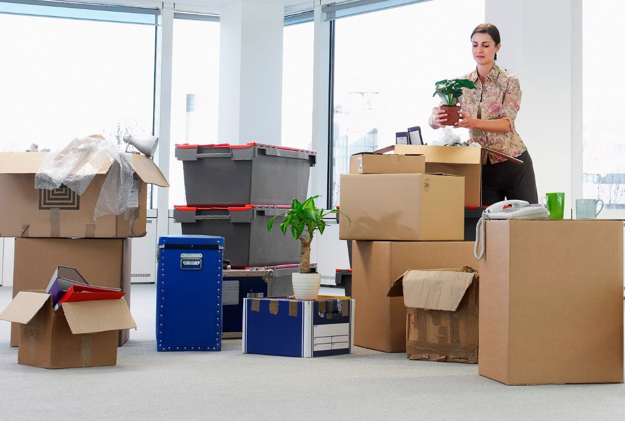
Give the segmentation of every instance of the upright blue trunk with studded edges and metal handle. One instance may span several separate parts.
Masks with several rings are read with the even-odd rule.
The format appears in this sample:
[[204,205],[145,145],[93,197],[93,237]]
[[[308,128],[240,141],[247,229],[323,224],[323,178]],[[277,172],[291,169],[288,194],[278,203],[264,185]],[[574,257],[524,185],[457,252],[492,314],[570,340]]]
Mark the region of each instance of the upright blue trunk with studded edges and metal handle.
[[223,254],[222,237],[159,239],[156,349],[221,350]]

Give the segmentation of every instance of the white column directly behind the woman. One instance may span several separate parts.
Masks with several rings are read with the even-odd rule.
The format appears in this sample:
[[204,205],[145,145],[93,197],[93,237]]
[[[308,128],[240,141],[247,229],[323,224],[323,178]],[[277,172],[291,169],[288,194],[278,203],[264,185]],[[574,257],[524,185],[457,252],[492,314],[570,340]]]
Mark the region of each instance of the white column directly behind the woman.
[[486,0],[486,22],[501,33],[499,66],[519,77],[516,128],[527,145],[538,196],[572,196],[572,0]]

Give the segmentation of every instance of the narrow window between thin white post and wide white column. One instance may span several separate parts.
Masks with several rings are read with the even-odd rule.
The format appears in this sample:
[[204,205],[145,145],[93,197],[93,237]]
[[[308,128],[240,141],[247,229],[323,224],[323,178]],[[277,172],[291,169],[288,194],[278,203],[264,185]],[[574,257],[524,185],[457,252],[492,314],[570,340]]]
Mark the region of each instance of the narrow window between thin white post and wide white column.
[[[217,143],[219,21],[202,15],[174,15],[171,88],[169,208],[186,204],[183,163],[176,144]],[[211,20],[206,20],[211,19]],[[192,46],[192,47],[189,47]],[[216,181],[207,181],[216,182]]]

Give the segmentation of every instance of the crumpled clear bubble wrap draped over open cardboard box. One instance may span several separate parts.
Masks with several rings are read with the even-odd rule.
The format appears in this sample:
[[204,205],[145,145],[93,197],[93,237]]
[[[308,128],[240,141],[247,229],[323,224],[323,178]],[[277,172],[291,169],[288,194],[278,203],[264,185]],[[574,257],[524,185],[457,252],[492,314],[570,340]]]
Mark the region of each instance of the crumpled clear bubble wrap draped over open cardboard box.
[[101,167],[111,162],[98,197],[93,219],[123,214],[133,188],[134,167],[118,146],[99,135],[76,138],[59,151],[44,157],[35,174],[35,189],[68,186],[82,196]]

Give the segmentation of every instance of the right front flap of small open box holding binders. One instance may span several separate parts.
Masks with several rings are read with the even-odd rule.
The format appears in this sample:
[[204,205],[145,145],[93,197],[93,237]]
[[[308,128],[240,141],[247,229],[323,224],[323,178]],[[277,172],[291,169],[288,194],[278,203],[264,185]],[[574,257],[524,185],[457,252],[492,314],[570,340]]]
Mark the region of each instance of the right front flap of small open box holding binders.
[[62,305],[74,335],[137,327],[123,299],[65,302]]

